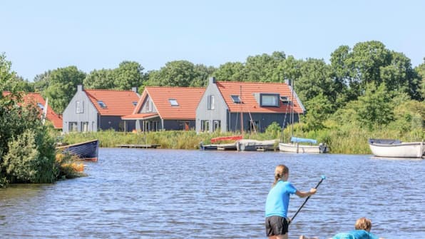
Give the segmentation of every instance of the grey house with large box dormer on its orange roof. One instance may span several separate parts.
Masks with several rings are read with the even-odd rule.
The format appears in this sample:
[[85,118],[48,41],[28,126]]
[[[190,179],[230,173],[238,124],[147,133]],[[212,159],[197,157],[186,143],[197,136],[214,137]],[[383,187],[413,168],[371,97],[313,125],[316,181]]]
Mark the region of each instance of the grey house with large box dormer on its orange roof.
[[[292,101],[294,109],[291,113]],[[287,83],[216,81],[210,78],[196,108],[196,131],[264,132],[277,122],[286,127],[290,117],[299,121],[305,112]]]

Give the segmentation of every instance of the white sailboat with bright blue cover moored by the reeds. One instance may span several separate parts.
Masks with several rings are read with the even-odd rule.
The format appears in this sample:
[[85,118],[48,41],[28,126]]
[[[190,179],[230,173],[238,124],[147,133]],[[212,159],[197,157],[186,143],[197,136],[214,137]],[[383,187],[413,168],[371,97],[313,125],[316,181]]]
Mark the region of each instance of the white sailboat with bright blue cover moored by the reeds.
[[[309,144],[300,144],[309,143]],[[279,143],[279,151],[288,153],[327,153],[329,148],[326,143],[319,143],[310,138],[291,138],[291,143]]]

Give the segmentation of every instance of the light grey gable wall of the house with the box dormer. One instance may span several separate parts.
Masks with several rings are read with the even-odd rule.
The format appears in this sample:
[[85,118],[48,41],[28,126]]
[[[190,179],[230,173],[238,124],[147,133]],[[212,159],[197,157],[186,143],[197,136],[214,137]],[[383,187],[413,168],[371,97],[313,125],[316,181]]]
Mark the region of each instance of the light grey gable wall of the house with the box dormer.
[[[214,96],[215,98],[215,108],[208,109],[208,97]],[[230,131],[228,121],[227,121],[227,104],[225,103],[224,98],[215,84],[215,79],[210,78],[210,83],[205,89],[198,107],[196,108],[196,123],[195,131],[201,131],[201,122],[209,121],[210,122],[210,132],[213,132],[213,121],[220,121],[221,132]]]

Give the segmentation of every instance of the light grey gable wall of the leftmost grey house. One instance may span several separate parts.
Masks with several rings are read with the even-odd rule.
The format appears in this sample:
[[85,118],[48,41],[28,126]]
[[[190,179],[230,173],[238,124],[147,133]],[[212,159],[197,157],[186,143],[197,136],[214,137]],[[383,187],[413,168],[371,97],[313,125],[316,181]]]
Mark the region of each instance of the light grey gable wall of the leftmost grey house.
[[[77,101],[83,107],[81,113],[77,113]],[[78,131],[81,131],[81,122],[88,122],[88,131],[98,131],[98,110],[93,106],[82,86],[77,87],[76,94],[66,106],[62,116],[63,133],[69,132],[69,122],[77,122]]]

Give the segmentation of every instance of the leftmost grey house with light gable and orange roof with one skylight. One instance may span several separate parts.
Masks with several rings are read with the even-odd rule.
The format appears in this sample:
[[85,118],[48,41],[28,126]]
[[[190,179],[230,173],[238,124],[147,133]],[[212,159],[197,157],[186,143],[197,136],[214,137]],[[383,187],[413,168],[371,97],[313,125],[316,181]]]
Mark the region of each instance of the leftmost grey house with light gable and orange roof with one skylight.
[[84,89],[77,92],[63,111],[63,133],[100,131],[133,131],[135,121],[123,121],[138,103],[137,88],[131,91]]

